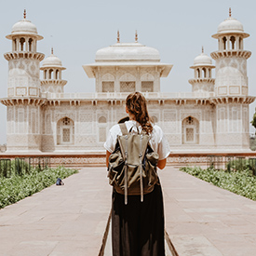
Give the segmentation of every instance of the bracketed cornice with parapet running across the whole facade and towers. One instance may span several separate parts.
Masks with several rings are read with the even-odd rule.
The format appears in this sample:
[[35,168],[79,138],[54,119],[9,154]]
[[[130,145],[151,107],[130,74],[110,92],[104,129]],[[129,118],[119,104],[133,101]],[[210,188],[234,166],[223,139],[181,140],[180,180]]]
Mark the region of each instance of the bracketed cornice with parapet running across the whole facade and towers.
[[[111,97],[111,93],[109,93],[107,97],[107,93],[104,93],[106,97],[98,97],[96,98],[96,95],[93,95],[91,93],[90,97],[87,98],[77,98],[75,97],[75,93],[70,93],[69,98],[61,98],[61,97],[48,97],[49,95],[53,96],[60,96],[64,95],[65,93],[42,93],[42,98],[31,98],[31,97],[15,97],[15,98],[4,98],[0,99],[0,102],[6,106],[12,106],[12,105],[49,105],[49,106],[61,106],[61,103],[68,102],[70,106],[77,106],[81,105],[82,102],[90,102],[92,105],[97,105],[98,102],[107,102],[110,105],[117,105],[122,104],[122,102],[126,101],[126,97],[128,96],[128,93],[125,94],[122,93],[122,96],[124,97]],[[115,94],[115,93],[112,93]],[[148,93],[151,94],[151,93]],[[154,94],[154,93],[152,93]],[[160,93],[155,93],[155,97],[151,95],[147,95],[145,93],[145,98],[148,102],[158,102],[160,105],[165,104],[166,102],[172,102],[176,105],[186,105],[186,104],[195,104],[195,105],[217,105],[217,104],[250,104],[253,101],[255,101],[256,97],[254,96],[225,96],[225,97],[214,97],[213,92],[209,93],[176,93],[180,94],[180,97],[174,97],[175,93],[173,94],[173,97],[171,95],[168,95],[170,93],[164,93],[166,97],[161,97],[161,95],[158,95]],[[194,97],[192,97],[194,95]],[[197,95],[197,97],[195,97]],[[203,96],[208,97],[203,97]],[[73,96],[73,97],[72,97]],[[94,97],[93,97],[94,96]],[[102,95],[101,95],[102,96]],[[120,95],[119,95],[120,96]]]

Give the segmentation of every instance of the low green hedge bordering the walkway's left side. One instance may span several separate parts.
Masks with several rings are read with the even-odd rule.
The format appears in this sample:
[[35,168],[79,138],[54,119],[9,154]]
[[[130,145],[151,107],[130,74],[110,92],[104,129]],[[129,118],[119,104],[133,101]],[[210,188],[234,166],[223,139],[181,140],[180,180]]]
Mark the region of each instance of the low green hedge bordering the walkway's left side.
[[0,178],[0,209],[43,190],[54,184],[58,178],[64,179],[77,172],[76,169],[59,167],[40,172],[33,170],[23,176]]

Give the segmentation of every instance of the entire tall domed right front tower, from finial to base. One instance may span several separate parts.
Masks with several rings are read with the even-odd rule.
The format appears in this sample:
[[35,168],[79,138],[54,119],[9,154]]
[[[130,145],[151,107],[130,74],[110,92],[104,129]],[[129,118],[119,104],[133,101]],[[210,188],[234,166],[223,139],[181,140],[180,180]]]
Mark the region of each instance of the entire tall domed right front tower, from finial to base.
[[218,26],[218,50],[210,56],[216,61],[215,97],[216,144],[226,150],[249,150],[249,103],[247,59],[244,32],[240,21],[229,17]]

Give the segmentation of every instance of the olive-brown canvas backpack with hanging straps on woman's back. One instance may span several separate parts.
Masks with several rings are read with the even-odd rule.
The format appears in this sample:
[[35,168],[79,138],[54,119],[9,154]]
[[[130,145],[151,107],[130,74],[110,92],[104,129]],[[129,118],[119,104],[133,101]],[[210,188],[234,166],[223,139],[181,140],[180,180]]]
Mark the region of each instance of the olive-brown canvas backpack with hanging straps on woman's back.
[[[127,126],[119,124],[122,135],[117,136],[115,151],[109,156],[108,178],[115,191],[125,195],[125,204],[128,204],[128,195],[143,195],[154,190],[158,182],[156,172],[158,154],[151,148],[150,136],[145,131],[137,133],[128,131]],[[158,182],[159,183],[159,182]]]

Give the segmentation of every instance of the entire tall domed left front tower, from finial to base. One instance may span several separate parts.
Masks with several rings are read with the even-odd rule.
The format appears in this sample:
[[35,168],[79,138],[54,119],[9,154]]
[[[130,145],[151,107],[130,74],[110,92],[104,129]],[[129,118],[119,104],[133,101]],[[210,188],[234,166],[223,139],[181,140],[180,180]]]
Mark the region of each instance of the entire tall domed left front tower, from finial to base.
[[15,23],[7,39],[12,50],[4,56],[8,61],[7,99],[7,151],[40,151],[41,108],[46,100],[40,98],[39,65],[45,57],[36,51],[35,25],[24,18]]

